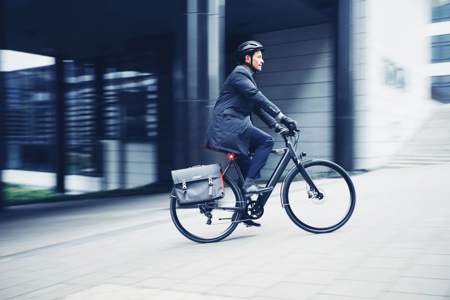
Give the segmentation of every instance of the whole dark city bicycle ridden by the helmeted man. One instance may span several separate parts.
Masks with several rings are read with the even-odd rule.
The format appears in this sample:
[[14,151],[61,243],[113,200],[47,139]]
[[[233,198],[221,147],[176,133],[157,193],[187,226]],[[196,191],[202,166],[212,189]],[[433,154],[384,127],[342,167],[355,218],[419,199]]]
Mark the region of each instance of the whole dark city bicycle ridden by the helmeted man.
[[[286,129],[279,132],[279,134],[283,137],[286,147],[273,149],[270,152],[276,155],[283,154],[283,156],[270,176],[266,187],[275,187],[289,161],[293,161],[294,166],[284,177],[280,193],[282,207],[289,218],[298,227],[310,233],[330,233],[341,228],[350,219],[355,209],[356,193],[350,176],[341,166],[331,161],[318,160],[314,159],[314,157],[302,160],[302,157],[306,156],[306,152],[297,155],[296,150],[294,150],[294,146],[297,146],[300,130]],[[295,143],[292,144],[288,138],[291,140],[294,138]],[[238,175],[238,183],[242,186],[244,179],[236,162],[236,159],[239,157],[235,157],[233,153],[227,153],[227,155],[230,158],[230,162],[223,171],[224,198],[186,207],[179,206],[175,192],[172,191],[171,193],[170,210],[175,227],[185,237],[194,242],[218,242],[228,237],[240,222],[261,218],[264,214],[264,206],[273,191],[257,195],[257,200],[252,200],[252,197],[244,199],[238,184],[227,175],[230,167],[234,166]],[[297,175],[299,175],[298,179],[296,178]],[[302,182],[304,182],[305,188],[300,188]],[[326,193],[324,188],[327,191]],[[329,196],[334,196],[335,198],[330,201]],[[348,205],[346,206],[344,203],[343,207],[338,206],[337,200],[346,196],[348,196]],[[301,197],[304,197],[304,199]],[[307,204],[306,209],[312,210],[312,212],[308,211],[306,216],[299,218],[298,215],[306,210],[305,207],[302,210],[294,209],[298,203]],[[315,212],[314,208],[317,210],[317,208],[325,205],[327,206],[326,210],[321,211],[318,215],[313,215]],[[200,226],[201,223],[199,221],[193,221],[194,216],[198,216],[198,212],[207,217],[206,226],[204,223],[203,226]],[[338,217],[330,218],[329,215],[336,212],[339,213]],[[212,222],[213,218],[219,222]],[[330,219],[332,224],[325,224]],[[183,220],[183,224],[181,220]],[[226,221],[222,222],[223,220]],[[220,229],[217,234],[209,235],[209,233],[205,233],[206,228]],[[200,236],[204,234],[208,236]]]

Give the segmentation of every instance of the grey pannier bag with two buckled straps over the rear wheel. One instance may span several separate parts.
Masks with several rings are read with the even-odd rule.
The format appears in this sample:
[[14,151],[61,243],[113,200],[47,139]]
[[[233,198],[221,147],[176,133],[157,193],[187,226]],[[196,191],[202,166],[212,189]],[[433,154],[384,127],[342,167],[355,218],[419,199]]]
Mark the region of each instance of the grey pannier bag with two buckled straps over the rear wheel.
[[179,205],[197,204],[225,196],[220,164],[174,170],[172,179]]

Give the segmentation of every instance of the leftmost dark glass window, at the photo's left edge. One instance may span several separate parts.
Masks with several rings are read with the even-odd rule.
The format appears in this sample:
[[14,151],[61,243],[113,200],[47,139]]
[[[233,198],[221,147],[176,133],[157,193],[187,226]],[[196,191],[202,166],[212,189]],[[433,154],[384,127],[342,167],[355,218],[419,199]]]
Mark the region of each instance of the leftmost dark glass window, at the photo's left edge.
[[52,172],[54,65],[4,72],[7,167]]

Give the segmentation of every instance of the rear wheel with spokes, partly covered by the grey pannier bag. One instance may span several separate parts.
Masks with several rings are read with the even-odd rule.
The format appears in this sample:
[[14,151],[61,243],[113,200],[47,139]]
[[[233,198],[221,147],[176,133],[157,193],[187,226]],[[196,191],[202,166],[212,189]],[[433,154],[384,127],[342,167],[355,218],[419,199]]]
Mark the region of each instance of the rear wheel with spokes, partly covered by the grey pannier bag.
[[[177,199],[171,197],[170,210],[173,223],[185,237],[198,243],[211,243],[228,237],[239,224],[242,212],[214,209],[214,207],[245,207],[242,195],[236,183],[228,175],[223,175],[225,197],[208,201],[212,214],[211,224],[207,216],[200,211],[199,205],[179,206]],[[171,196],[174,196],[172,191]]]

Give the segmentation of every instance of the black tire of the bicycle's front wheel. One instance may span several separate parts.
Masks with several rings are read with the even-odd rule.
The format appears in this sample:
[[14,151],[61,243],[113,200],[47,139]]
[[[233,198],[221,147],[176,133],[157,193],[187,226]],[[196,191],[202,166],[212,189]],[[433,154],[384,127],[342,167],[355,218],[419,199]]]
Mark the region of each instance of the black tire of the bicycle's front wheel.
[[[295,178],[295,176],[300,172],[300,170],[296,166],[294,166],[288,172],[288,174],[286,175],[286,177],[284,179],[284,184],[283,184],[282,191],[281,191],[281,195],[282,195],[281,197],[282,197],[282,203],[284,206],[284,210],[286,210],[286,213],[288,214],[289,218],[294,222],[294,224],[296,224],[298,227],[300,227],[303,230],[306,230],[307,232],[310,232],[310,233],[330,233],[330,232],[333,232],[333,231],[341,228],[350,219],[350,217],[353,213],[353,210],[355,209],[355,204],[356,204],[355,187],[353,185],[353,182],[350,179],[350,176],[347,174],[347,172],[341,166],[338,166],[337,164],[335,164],[331,161],[312,160],[312,161],[306,162],[303,166],[305,167],[306,170],[308,167],[311,167],[311,166],[324,166],[324,167],[328,167],[328,168],[334,170],[339,175],[341,175],[342,178],[345,179],[345,182],[347,183],[347,186],[349,188],[350,205],[349,205],[348,211],[345,214],[345,216],[337,224],[334,224],[332,226],[327,226],[324,228],[308,225],[308,224],[302,222],[302,220],[300,220],[299,218],[297,218],[297,216],[294,214],[294,212],[292,210],[292,207],[290,205],[291,203],[289,202],[289,188],[291,187],[291,184],[293,183],[293,179]],[[316,184],[316,182],[315,182],[315,184]],[[320,188],[320,186],[318,186],[318,188]]]

